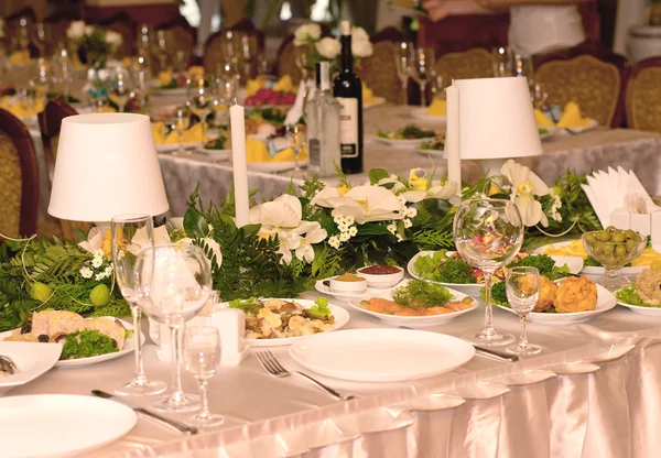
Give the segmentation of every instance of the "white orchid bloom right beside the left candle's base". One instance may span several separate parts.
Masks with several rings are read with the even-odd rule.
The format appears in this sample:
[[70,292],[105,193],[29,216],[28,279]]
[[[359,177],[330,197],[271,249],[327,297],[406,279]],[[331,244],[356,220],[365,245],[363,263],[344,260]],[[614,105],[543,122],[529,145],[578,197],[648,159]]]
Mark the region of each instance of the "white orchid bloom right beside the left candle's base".
[[303,208],[297,197],[284,194],[272,201],[252,207],[248,214],[251,225],[261,225],[260,236],[272,236],[281,229],[293,229],[301,225]]

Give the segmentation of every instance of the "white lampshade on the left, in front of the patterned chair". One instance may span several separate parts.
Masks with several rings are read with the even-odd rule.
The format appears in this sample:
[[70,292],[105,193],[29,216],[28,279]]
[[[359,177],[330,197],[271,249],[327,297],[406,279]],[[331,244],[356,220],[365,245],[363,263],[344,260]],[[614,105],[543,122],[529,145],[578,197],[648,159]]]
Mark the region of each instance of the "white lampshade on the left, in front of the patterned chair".
[[149,117],[95,113],[62,121],[48,214],[110,221],[169,208]]

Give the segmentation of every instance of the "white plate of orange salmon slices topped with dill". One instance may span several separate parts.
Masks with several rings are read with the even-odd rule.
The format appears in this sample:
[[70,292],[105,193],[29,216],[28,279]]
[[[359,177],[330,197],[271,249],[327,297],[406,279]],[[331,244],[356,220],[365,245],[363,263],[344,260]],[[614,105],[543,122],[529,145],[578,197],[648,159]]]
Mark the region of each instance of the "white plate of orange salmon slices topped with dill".
[[349,305],[390,325],[418,327],[455,319],[477,308],[477,301],[437,283],[404,280],[397,287]]

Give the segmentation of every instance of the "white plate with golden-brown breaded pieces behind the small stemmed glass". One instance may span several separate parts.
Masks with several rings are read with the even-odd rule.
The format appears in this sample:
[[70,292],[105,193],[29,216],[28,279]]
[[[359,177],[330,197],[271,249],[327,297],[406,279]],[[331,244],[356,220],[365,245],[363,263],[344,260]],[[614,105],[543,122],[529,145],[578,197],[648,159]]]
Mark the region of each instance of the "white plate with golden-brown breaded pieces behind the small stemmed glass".
[[[540,276],[540,297],[534,309],[528,314],[530,323],[568,325],[587,321],[616,306],[613,293],[586,276],[568,276],[552,281]],[[517,314],[507,302],[505,284],[494,285],[494,305]]]

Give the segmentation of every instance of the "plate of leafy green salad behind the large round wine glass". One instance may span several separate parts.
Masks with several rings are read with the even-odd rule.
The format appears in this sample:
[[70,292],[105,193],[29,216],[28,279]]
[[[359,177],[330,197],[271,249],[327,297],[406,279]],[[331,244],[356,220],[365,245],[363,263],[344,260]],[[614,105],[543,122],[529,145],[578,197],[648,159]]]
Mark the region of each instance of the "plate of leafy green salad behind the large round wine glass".
[[[563,259],[554,259],[543,254],[519,252],[508,264],[509,266],[533,266],[541,272],[553,271],[552,276],[562,277],[581,271],[579,263],[568,265]],[[470,266],[456,251],[421,251],[411,258],[407,265],[411,276],[441,283],[443,286],[459,291],[473,297],[479,297],[484,286],[484,273]],[[495,283],[505,279],[505,269],[498,269],[494,274]]]

